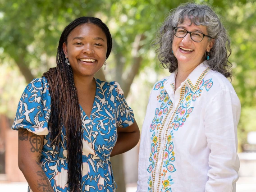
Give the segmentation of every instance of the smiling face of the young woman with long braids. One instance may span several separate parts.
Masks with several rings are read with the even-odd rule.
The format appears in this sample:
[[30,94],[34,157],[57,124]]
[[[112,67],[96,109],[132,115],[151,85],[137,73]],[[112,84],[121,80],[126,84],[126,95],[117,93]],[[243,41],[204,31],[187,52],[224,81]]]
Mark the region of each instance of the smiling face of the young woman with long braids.
[[94,76],[106,59],[107,38],[100,27],[84,23],[75,27],[63,44],[74,76]]

